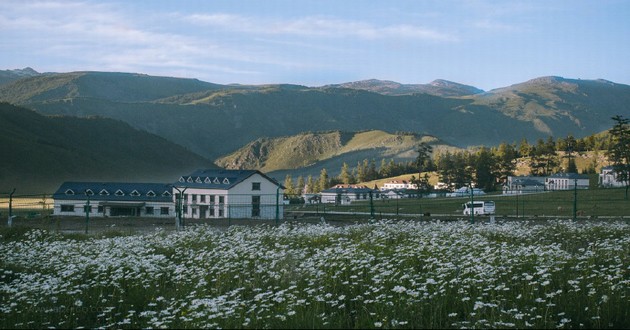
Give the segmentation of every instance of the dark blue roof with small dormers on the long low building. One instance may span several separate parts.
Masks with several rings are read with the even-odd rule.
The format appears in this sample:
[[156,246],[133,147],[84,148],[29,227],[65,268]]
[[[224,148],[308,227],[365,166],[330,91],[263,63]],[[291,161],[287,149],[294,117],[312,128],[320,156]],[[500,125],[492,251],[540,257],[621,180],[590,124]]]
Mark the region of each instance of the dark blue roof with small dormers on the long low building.
[[165,183],[64,182],[53,194],[56,200],[171,202],[171,185]]

